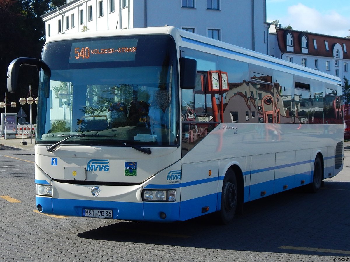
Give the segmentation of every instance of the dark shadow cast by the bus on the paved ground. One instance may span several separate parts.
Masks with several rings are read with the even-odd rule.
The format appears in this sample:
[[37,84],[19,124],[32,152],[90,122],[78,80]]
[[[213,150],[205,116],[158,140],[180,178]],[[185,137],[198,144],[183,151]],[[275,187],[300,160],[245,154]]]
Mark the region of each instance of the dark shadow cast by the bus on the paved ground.
[[288,247],[350,250],[350,182],[325,182],[317,194],[297,188],[244,206],[230,225],[215,224],[214,216],[159,224],[121,221],[79,233],[78,237],[154,245],[246,250],[322,256],[337,252],[282,249]]

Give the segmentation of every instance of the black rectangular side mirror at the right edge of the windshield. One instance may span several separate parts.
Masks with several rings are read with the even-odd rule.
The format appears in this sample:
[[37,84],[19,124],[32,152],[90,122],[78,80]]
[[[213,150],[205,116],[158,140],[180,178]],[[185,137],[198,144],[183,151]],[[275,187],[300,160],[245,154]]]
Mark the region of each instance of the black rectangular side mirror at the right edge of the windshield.
[[180,58],[180,88],[195,89],[197,61],[191,58]]

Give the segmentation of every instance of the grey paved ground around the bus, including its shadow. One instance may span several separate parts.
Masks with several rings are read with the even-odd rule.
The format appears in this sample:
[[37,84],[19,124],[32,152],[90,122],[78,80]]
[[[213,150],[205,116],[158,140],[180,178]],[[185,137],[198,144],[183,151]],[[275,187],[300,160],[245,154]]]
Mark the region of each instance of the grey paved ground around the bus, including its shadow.
[[218,226],[212,217],[155,224],[38,213],[34,152],[8,149],[0,146],[0,261],[350,261],[348,150],[318,193],[268,196]]

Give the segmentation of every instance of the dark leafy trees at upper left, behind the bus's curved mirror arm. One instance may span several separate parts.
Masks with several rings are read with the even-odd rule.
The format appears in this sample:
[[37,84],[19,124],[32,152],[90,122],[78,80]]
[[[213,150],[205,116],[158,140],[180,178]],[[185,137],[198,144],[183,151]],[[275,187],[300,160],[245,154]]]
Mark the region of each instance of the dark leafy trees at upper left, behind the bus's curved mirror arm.
[[[18,57],[40,58],[45,42],[45,23],[41,15],[63,5],[64,0],[0,0],[0,100],[7,92],[7,67]],[[20,97],[27,98],[29,85],[34,98],[37,96],[38,72],[35,67],[23,66],[20,69],[19,90],[8,93],[10,102],[18,103]],[[36,105],[33,104],[34,112]],[[29,105],[22,106],[29,113]],[[9,108],[8,112],[18,112],[19,107]],[[35,115],[35,114],[34,114]],[[35,116],[34,116],[35,118]],[[34,121],[33,121],[34,122]]]

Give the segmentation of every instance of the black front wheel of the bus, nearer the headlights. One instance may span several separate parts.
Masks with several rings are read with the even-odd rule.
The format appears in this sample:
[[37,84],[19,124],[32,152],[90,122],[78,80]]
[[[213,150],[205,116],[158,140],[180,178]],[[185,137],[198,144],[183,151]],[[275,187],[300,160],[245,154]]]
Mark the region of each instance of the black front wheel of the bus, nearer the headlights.
[[221,192],[221,209],[218,211],[220,224],[229,224],[235,216],[238,187],[235,172],[228,170],[224,177]]

